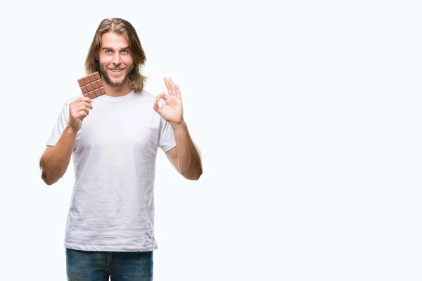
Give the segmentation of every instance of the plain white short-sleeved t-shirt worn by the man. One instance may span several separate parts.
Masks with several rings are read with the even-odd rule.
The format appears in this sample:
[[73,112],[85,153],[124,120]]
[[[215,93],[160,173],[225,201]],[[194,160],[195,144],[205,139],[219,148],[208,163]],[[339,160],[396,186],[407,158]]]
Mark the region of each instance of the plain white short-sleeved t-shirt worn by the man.
[[[80,95],[82,96],[82,94]],[[69,122],[63,106],[46,145],[56,145]],[[77,132],[65,247],[84,251],[153,251],[154,178],[158,148],[176,142],[147,91],[94,98]],[[162,102],[162,100],[161,100]],[[163,103],[161,103],[162,105]]]

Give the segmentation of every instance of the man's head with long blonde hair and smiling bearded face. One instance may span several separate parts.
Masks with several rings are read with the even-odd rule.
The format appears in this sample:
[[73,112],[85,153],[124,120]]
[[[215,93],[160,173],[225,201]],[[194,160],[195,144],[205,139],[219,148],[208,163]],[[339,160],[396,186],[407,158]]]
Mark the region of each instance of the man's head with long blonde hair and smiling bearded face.
[[104,19],[89,48],[85,70],[87,74],[100,72],[110,86],[119,87],[129,81],[139,93],[146,81],[141,75],[145,62],[146,56],[134,27],[121,18]]

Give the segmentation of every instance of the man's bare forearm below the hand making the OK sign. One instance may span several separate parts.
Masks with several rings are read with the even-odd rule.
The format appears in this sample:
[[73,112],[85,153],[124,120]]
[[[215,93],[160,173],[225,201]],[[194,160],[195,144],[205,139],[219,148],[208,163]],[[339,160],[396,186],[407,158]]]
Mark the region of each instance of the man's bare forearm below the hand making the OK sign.
[[186,123],[182,121],[179,124],[172,124],[172,128],[177,145],[179,171],[185,178],[198,180],[203,173],[202,164]]

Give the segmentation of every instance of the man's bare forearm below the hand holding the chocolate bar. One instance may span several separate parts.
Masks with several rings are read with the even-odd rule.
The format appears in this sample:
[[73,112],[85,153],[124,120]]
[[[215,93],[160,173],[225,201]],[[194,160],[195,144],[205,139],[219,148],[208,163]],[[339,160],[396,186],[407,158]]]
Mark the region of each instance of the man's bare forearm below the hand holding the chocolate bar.
[[75,146],[76,134],[77,132],[68,126],[57,144],[42,155],[39,167],[41,168],[41,178],[46,184],[56,183],[65,174]]

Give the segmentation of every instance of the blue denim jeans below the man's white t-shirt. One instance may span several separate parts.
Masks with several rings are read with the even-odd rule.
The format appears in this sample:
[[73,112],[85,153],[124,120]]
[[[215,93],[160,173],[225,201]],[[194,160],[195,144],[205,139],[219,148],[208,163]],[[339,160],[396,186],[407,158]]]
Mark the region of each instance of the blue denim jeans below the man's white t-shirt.
[[68,281],[152,281],[153,251],[66,249]]

